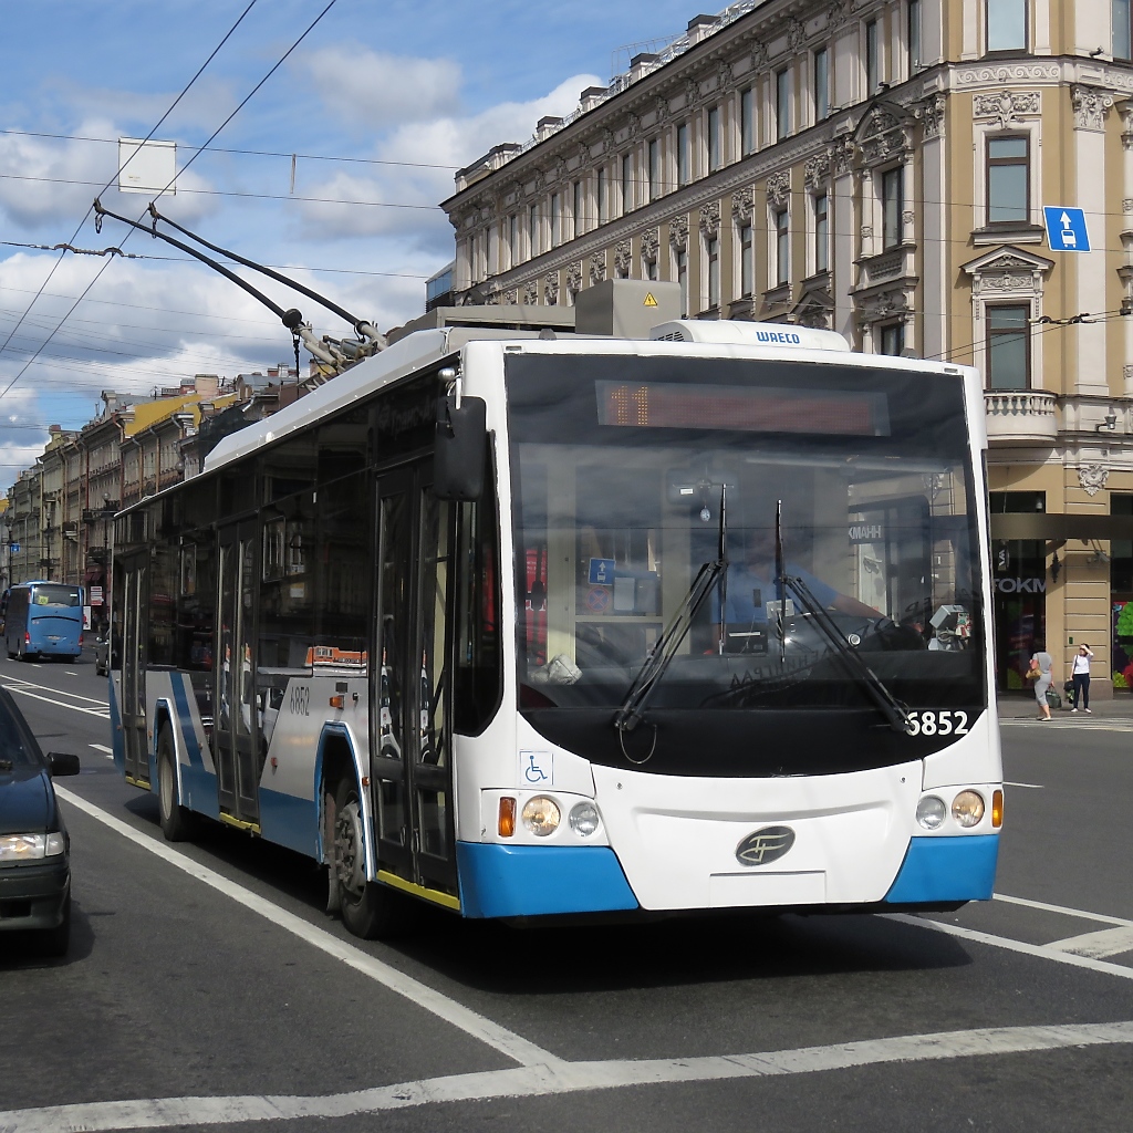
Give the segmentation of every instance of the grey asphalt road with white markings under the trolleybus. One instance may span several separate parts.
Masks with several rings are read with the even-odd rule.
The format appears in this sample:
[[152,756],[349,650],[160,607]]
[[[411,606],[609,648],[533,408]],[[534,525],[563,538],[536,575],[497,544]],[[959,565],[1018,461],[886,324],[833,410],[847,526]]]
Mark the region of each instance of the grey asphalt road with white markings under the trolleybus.
[[[359,942],[321,877],[219,827],[161,840],[90,658],[0,657],[73,838],[65,961],[0,938],[0,1131],[1133,1127],[1133,722],[1004,726],[997,900],[932,919]],[[62,1107],[62,1108],[60,1108]]]

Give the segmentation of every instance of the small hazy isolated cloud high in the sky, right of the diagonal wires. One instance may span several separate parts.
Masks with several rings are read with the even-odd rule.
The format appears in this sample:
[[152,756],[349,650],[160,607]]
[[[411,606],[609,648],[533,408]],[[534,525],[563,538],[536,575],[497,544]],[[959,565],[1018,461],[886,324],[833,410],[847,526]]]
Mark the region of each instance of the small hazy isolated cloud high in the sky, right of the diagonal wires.
[[321,48],[299,66],[330,110],[367,129],[427,121],[457,107],[460,67],[449,59]]

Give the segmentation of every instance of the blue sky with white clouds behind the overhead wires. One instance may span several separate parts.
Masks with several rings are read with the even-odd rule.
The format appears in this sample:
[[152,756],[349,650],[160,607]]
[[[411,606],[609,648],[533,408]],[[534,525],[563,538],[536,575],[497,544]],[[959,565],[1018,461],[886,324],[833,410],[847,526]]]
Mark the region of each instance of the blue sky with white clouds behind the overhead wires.
[[[179,169],[326,2],[253,5],[154,135],[178,144]],[[145,393],[197,373],[293,361],[288,332],[232,283],[122,224],[108,220],[96,233],[84,221],[114,178],[117,138],[151,131],[247,5],[0,0],[0,491],[43,451],[50,424],[90,420],[102,390]],[[689,0],[335,0],[161,210],[290,269],[378,329],[397,325],[423,312],[425,280],[452,258],[437,203],[454,170],[527,140],[544,114],[571,112],[630,51],[680,34],[697,14]],[[147,201],[102,193],[107,208],[134,219]],[[70,241],[80,222],[76,247],[146,258],[26,247]],[[349,331],[241,274],[300,307],[316,333]]]

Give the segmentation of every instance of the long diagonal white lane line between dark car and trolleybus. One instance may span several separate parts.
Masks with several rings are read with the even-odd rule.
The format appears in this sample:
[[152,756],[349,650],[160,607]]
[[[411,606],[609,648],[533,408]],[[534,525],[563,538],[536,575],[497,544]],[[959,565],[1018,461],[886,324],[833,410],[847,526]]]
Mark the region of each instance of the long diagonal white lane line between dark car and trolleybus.
[[[344,964],[369,977],[369,979],[382,983],[391,991],[404,996],[411,1003],[417,1004],[417,1006],[423,1007],[425,1011],[432,1012],[432,1014],[460,1029],[466,1034],[470,1034],[494,1050],[499,1050],[509,1058],[513,1058],[520,1065],[557,1065],[560,1063],[559,1058],[548,1050],[544,1050],[543,1047],[538,1047],[522,1036],[509,1031],[489,1019],[485,1019],[483,1015],[457,1003],[454,999],[450,999],[448,996],[421,983],[419,980],[415,980],[411,976],[399,972],[395,968],[391,968],[375,956],[363,952],[360,948],[356,948],[352,944],[347,944],[324,929],[316,928],[301,917],[289,913],[286,909],[280,909],[279,905],[273,904],[266,897],[262,897],[257,893],[244,888],[244,886],[238,885],[236,881],[230,881],[227,877],[222,877],[206,866],[198,864],[191,858],[171,850],[163,842],[156,842],[145,834],[139,834],[134,827],[127,826],[126,823],[93,806],[74,792],[57,785],[56,794],[70,803],[70,806],[97,819],[104,826],[109,826],[116,834],[120,834],[136,845],[142,846],[142,849],[148,850],[150,853],[155,854],[171,866],[176,866],[190,877],[195,877],[198,881],[204,881],[205,885],[212,886],[212,888],[223,893],[227,897],[231,897],[238,904],[250,909],[254,913],[258,913],[271,921],[271,923],[320,948],[335,960],[341,960]],[[173,1124],[177,1123],[174,1122]],[[3,1124],[2,1118],[0,1118],[0,1130],[3,1133],[10,1133]]]

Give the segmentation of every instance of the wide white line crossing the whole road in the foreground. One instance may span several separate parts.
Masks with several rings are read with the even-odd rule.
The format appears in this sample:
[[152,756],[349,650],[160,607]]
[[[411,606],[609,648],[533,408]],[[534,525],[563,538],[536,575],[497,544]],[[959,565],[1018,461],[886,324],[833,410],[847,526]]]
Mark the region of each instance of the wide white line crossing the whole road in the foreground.
[[174,1125],[196,1128],[203,1125],[235,1125],[239,1122],[329,1119],[391,1109],[412,1109],[438,1102],[540,1098],[628,1087],[778,1077],[853,1070],[859,1066],[979,1058],[1130,1042],[1133,1042],[1133,1022],[996,1026],[744,1055],[648,1058],[640,1062],[556,1062],[548,1066],[454,1074],[322,1097],[245,1094],[228,1098],[159,1098],[12,1109],[0,1113],[0,1128],[5,1133],[95,1133]]

